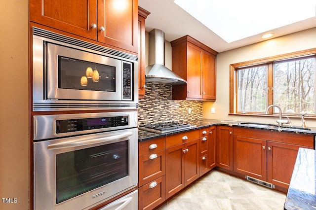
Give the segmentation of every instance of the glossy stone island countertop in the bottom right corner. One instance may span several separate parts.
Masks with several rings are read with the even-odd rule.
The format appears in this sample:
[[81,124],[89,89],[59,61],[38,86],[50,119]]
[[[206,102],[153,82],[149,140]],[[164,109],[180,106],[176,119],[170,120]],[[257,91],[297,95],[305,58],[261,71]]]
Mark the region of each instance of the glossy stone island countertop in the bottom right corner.
[[316,209],[316,150],[300,148],[284,210]]

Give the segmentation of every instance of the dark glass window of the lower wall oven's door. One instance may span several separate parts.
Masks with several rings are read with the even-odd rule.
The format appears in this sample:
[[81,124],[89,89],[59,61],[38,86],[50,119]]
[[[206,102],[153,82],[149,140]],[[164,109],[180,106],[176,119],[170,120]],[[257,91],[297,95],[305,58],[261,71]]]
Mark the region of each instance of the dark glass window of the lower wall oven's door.
[[128,140],[57,154],[56,204],[128,175]]

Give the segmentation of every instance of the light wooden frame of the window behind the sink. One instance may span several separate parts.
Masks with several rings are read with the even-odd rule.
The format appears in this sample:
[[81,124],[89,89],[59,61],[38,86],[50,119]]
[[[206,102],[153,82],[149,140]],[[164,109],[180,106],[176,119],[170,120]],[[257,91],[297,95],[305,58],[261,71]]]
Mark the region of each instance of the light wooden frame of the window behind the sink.
[[[305,56],[315,56],[316,55],[316,48],[308,49],[308,50],[301,50],[297,52],[292,53],[286,53],[276,56],[271,56],[267,58],[261,58],[246,62],[240,62],[236,64],[230,65],[230,108],[229,108],[229,114],[230,115],[250,115],[250,116],[267,116],[264,113],[258,113],[258,112],[237,112],[237,81],[236,81],[236,73],[238,69],[246,68],[246,67],[252,67],[252,66],[258,66],[258,65],[268,65],[268,75],[273,75],[273,63],[279,62],[282,60],[291,60],[291,59],[297,59],[298,57],[305,57]],[[274,85],[273,76],[268,76],[268,105],[273,104],[273,90],[272,87]],[[268,106],[267,105],[267,106]],[[276,115],[278,113],[273,113],[273,109],[269,110],[269,115]],[[300,114],[286,114],[291,117],[301,117]],[[316,114],[310,115],[311,118],[316,119]]]

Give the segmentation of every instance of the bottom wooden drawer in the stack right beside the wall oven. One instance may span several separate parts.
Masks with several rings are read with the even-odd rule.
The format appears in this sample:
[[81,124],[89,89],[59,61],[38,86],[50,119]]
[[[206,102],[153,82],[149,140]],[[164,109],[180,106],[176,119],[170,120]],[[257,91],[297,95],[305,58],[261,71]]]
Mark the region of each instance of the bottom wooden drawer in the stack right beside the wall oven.
[[164,176],[161,176],[154,181],[140,187],[138,209],[152,210],[165,200],[165,183]]

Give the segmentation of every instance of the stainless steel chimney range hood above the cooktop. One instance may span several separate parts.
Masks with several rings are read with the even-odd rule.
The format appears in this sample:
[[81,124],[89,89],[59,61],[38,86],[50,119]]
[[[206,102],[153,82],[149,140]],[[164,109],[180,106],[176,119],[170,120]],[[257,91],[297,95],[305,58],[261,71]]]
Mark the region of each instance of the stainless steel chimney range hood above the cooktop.
[[149,32],[149,66],[146,67],[145,74],[146,81],[170,85],[187,83],[164,66],[164,32],[158,29]]

